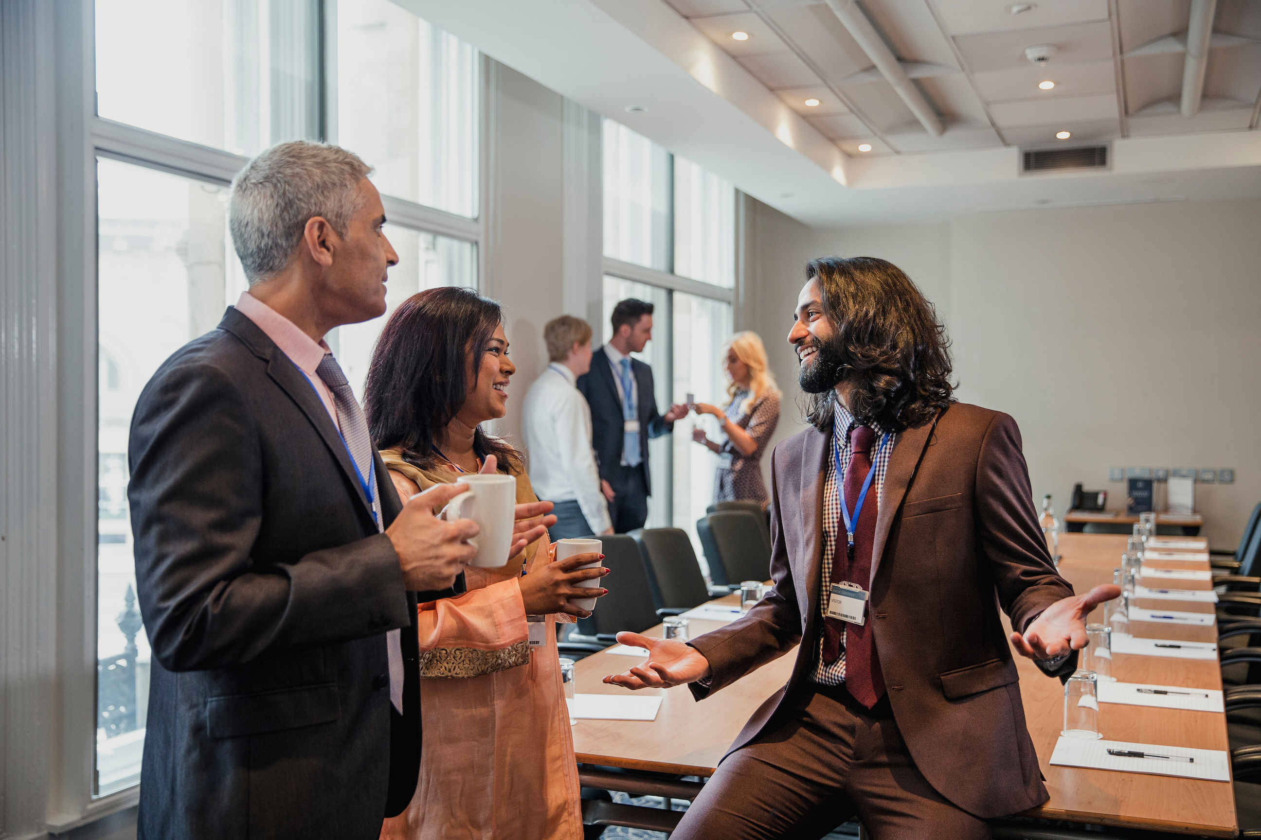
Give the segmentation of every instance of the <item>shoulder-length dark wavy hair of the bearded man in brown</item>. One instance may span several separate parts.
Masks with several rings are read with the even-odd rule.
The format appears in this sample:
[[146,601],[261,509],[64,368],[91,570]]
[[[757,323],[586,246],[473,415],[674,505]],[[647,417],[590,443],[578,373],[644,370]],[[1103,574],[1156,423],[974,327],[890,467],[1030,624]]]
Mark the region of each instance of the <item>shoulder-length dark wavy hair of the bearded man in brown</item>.
[[[884,432],[921,426],[955,402],[950,339],[937,310],[910,278],[876,257],[820,257],[806,264],[818,282],[835,332],[837,380],[850,379],[850,413]],[[806,398],[806,419],[832,424],[836,392]]]

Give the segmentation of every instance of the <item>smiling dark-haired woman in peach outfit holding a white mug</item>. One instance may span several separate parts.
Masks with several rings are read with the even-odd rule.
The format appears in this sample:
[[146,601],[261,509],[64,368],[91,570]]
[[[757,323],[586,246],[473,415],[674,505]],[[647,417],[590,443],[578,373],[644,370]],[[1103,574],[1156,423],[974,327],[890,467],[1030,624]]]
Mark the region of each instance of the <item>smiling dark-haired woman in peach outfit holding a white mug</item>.
[[[498,471],[516,477],[518,504],[538,501],[517,451],[480,429],[504,416],[514,372],[494,301],[431,288],[397,309],[364,408],[400,496]],[[576,583],[608,570],[578,570],[595,554],[551,558],[543,536],[503,568],[467,569],[467,594],[420,606],[420,781],[382,840],[581,840],[555,625],[590,615],[569,598],[603,594]]]

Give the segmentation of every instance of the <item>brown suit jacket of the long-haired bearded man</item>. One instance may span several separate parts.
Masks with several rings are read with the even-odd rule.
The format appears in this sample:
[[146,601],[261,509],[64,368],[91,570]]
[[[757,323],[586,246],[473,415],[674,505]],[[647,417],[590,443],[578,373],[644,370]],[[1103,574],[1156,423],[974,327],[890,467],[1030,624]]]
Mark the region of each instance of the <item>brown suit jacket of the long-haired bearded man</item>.
[[[770,577],[747,616],[691,644],[710,661],[697,699],[802,642],[788,684],[749,719],[749,743],[811,684],[818,650],[823,467],[831,432],[808,428],[770,457]],[[953,404],[903,432],[876,516],[868,621],[889,701],[915,766],[979,817],[1048,800],[1025,729],[1016,666],[999,617],[1024,630],[1073,594],[1038,526],[1020,431],[1009,416]],[[1072,673],[1077,655],[1057,674]],[[730,754],[730,753],[728,753]]]

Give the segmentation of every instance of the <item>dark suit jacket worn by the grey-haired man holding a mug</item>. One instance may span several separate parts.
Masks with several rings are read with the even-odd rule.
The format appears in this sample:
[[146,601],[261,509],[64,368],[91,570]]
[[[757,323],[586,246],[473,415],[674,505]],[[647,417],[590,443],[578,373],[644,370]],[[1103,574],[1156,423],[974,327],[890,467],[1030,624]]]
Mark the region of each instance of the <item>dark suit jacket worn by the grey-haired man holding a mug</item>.
[[153,647],[139,836],[372,840],[416,787],[416,596],[314,388],[230,307],[150,379],[129,458]]

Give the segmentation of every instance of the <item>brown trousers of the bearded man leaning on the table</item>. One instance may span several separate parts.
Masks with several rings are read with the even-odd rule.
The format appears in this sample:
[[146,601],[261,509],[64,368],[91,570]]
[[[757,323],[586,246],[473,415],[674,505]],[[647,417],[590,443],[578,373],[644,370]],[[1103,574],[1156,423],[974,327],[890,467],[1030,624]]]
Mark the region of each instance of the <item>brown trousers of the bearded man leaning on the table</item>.
[[793,712],[718,768],[672,840],[807,840],[857,816],[873,840],[984,840],[989,826],[915,768],[881,699],[803,690]]

